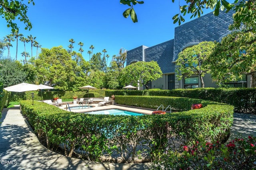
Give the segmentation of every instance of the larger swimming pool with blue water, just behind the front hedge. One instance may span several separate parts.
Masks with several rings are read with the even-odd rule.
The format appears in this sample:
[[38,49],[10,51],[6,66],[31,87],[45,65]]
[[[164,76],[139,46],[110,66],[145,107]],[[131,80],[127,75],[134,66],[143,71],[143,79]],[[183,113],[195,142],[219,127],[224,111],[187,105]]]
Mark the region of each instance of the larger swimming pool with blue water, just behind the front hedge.
[[108,109],[108,110],[100,110],[100,111],[90,111],[90,112],[86,112],[86,113],[94,114],[94,115],[128,115],[128,116],[141,116],[141,115],[144,115],[142,113],[136,113],[136,112],[120,110],[120,109]]

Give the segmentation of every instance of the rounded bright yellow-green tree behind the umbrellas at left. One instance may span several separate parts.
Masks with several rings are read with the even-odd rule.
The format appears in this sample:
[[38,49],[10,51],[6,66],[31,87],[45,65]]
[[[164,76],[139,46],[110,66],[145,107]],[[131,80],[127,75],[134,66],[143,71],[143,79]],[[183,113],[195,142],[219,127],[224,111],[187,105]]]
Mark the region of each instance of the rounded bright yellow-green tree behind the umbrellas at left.
[[76,64],[71,55],[62,46],[51,49],[42,48],[35,66],[40,83],[48,82],[58,90],[72,90],[76,74],[73,68]]

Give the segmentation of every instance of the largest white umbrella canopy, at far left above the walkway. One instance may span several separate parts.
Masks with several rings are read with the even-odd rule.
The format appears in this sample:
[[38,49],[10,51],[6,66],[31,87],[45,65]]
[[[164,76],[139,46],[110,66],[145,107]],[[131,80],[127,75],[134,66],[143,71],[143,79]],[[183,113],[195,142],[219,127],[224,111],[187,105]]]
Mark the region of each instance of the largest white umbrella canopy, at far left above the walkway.
[[29,84],[29,83],[20,83],[13,86],[9,86],[4,88],[9,92],[27,92],[27,91],[34,91],[40,89],[40,86],[36,84]]

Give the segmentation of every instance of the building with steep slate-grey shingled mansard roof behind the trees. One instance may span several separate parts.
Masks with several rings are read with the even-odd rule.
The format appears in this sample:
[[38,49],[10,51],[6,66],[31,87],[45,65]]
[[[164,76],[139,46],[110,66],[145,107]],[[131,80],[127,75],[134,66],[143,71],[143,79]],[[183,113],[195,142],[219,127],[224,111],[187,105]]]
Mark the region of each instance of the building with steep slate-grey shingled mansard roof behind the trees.
[[[174,30],[174,39],[146,47],[144,45],[127,51],[126,65],[137,61],[156,61],[160,66],[162,78],[150,82],[149,88],[174,89],[174,88],[198,88],[201,87],[200,78],[197,75],[177,80],[175,76],[175,61],[178,53],[187,47],[196,45],[202,41],[218,41],[231,33],[228,26],[233,23],[234,12],[220,12],[219,16],[209,13],[200,18],[184,23]],[[212,82],[211,75],[204,76],[205,87],[217,87]],[[230,86],[250,87],[250,76],[244,76],[243,81],[230,82]],[[139,90],[144,87],[139,87]]]

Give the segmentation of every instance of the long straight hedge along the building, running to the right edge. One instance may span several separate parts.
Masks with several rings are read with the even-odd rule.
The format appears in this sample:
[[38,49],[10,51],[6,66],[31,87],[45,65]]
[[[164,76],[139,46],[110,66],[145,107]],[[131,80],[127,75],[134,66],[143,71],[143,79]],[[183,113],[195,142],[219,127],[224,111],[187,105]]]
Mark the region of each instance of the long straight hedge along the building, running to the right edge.
[[[195,88],[174,90],[106,90],[111,96],[174,96],[226,103],[238,112],[256,113],[256,88]],[[147,95],[146,95],[147,94]]]

